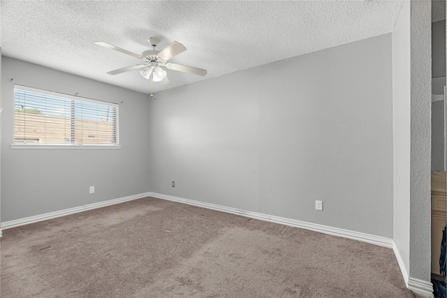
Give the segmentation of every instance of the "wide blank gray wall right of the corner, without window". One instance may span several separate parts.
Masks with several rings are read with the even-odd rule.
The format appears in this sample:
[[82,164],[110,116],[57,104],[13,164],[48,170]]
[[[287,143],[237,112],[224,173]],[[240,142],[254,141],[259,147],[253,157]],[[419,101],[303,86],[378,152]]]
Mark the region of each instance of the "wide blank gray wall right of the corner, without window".
[[150,190],[392,238],[391,65],[387,34],[156,94]]

